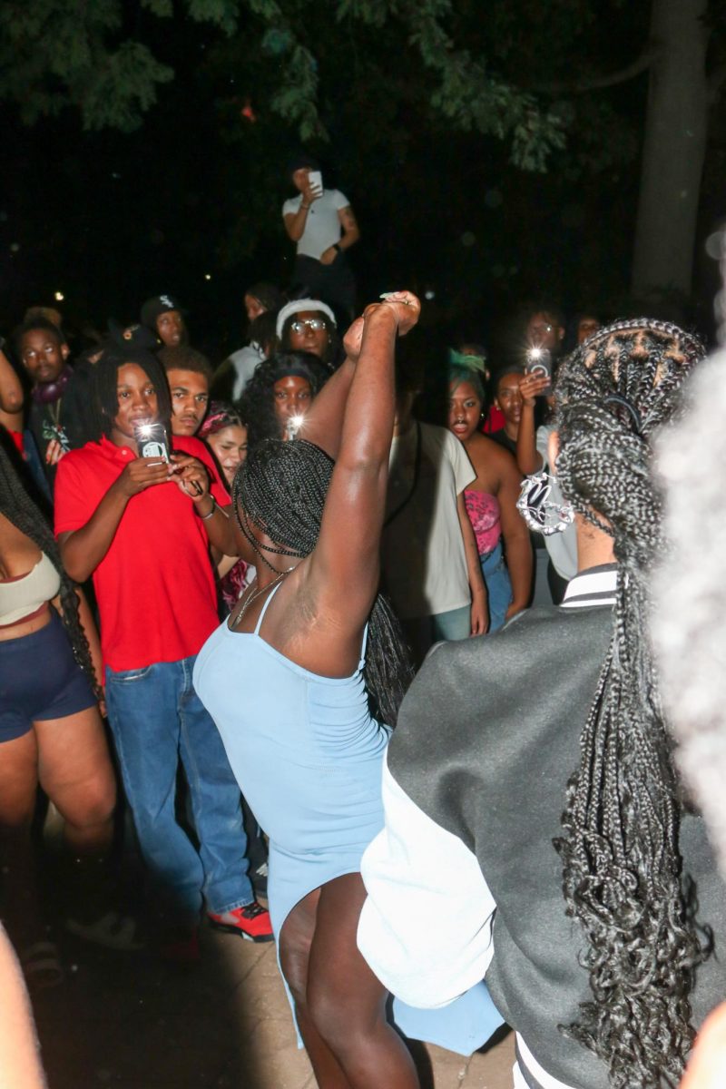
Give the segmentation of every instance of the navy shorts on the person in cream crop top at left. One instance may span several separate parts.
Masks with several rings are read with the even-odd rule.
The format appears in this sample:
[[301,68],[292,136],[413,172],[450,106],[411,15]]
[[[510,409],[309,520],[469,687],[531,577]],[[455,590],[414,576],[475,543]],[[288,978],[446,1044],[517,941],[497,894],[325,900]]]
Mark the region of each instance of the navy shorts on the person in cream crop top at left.
[[64,719],[94,707],[96,697],[77,665],[63,622],[0,641],[0,742],[29,733],[34,722]]

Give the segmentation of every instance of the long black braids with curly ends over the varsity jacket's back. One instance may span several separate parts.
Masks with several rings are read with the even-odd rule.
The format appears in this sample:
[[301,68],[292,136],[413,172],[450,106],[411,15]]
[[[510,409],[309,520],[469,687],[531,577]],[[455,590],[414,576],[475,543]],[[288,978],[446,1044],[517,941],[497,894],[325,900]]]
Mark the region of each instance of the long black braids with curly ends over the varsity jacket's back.
[[644,626],[645,575],[664,547],[651,437],[677,412],[703,355],[675,326],[623,321],[574,352],[555,388],[557,480],[613,537],[618,561],[613,637],[555,840],[593,1001],[561,1030],[607,1064],[615,1089],[676,1084],[693,1038],[701,950],[681,888],[678,784]]

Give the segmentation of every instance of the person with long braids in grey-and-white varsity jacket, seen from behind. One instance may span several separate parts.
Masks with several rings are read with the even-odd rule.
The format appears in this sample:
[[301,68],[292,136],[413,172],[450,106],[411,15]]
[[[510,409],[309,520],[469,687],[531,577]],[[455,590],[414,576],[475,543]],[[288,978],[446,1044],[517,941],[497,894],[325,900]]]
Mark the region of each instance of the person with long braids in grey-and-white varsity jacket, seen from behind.
[[[559,611],[431,656],[390,747],[386,830],[364,858],[358,937],[379,977],[432,1003],[420,920],[445,903],[448,993],[487,974],[520,1031],[517,1085],[533,1089],[673,1085],[691,1023],[726,987],[724,890],[684,803],[645,633],[664,550],[651,442],[702,355],[682,330],[636,319],[563,364],[553,451],[569,510],[545,505],[541,524],[575,516],[578,574]],[[459,895],[442,900],[454,872]],[[701,923],[716,942],[703,964]]]

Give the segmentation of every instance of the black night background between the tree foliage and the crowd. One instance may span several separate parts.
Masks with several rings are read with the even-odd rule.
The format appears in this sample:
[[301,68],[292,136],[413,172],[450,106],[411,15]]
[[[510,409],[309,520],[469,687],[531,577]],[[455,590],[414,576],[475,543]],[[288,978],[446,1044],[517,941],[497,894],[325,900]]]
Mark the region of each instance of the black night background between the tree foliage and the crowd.
[[[583,57],[611,70],[627,63],[649,4],[615,7],[627,33],[605,44],[593,27],[577,44],[547,41],[543,52],[546,27],[528,26],[508,74],[516,65],[534,81],[571,71],[576,46],[580,66]],[[287,281],[294,247],[281,206],[293,194],[285,163],[300,142],[268,108],[278,59],[245,51],[242,34],[230,42],[184,20],[149,16],[146,32],[176,78],[137,132],[84,133],[73,108],[33,127],[9,105],[0,112],[8,136],[0,329],[7,334],[27,305],[51,304],[58,291],[76,332],[85,322],[102,330],[109,318],[135,320],[144,298],[169,291],[188,309],[193,343],[219,362],[244,342],[245,286]],[[531,174],[510,164],[505,144],[452,131],[436,117],[415,60],[395,40],[370,38],[381,75],[360,61],[365,35],[353,59],[350,42],[323,33],[322,22],[312,37],[332,138],[308,147],[323,160],[325,183],[342,188],[357,213],[362,241],[352,260],[361,303],[392,286],[428,291],[433,342],[475,339],[495,356],[506,352],[517,308],[530,298],[550,299],[569,316],[631,308],[647,75],[576,99],[567,149],[546,174]],[[248,101],[254,121],[243,113]],[[723,211],[722,127],[718,113],[690,304],[706,333],[717,281],[702,252]]]

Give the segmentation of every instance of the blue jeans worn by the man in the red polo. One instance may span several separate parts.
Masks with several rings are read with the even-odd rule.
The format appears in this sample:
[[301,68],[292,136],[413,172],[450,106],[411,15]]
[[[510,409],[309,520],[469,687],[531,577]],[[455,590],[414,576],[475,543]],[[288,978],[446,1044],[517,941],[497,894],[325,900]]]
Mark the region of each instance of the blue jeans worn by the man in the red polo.
[[[192,686],[194,658],[106,668],[106,702],[128,805],[160,907],[198,918],[202,895],[222,914],[255,898],[239,787],[217,726]],[[175,817],[182,758],[199,840]]]

